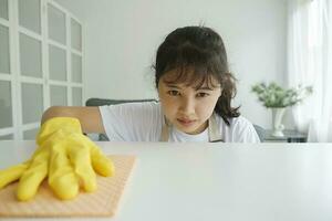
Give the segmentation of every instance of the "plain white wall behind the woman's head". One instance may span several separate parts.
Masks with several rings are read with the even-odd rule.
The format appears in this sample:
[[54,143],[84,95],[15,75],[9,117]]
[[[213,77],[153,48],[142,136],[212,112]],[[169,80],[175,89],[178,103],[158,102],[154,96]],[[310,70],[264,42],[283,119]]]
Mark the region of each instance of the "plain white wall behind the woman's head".
[[235,104],[255,124],[271,114],[250,93],[284,82],[284,0],[56,0],[85,23],[85,97],[155,97],[156,49],[175,28],[204,23],[222,36],[238,82]]

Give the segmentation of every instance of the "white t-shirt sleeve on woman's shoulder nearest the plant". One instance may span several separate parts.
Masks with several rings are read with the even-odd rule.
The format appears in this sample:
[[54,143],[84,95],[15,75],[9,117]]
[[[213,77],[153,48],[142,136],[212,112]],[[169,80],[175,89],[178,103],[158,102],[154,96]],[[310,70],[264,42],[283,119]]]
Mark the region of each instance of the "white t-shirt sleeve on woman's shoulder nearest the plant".
[[260,143],[253,125],[245,117],[237,117],[231,127],[234,143]]

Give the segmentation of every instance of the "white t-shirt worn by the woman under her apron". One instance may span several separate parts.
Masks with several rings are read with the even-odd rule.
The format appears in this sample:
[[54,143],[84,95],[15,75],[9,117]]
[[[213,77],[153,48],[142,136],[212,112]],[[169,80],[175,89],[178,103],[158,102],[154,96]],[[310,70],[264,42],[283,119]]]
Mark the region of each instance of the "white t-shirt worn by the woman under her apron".
[[[159,141],[164,116],[159,103],[125,103],[100,106],[103,125],[110,140],[113,141]],[[229,119],[230,126],[219,115],[217,125],[226,143],[259,143],[252,124],[242,116]],[[208,129],[197,135],[188,135],[175,127],[169,133],[170,143],[209,140]]]

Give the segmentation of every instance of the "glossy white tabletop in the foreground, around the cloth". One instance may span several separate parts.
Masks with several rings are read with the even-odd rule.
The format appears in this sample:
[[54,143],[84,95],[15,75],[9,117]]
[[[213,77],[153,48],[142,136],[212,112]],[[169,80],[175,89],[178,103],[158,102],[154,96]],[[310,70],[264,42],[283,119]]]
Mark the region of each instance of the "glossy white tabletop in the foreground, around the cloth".
[[[332,144],[97,144],[137,164],[117,214],[93,220],[332,220]],[[33,150],[0,141],[0,169]]]

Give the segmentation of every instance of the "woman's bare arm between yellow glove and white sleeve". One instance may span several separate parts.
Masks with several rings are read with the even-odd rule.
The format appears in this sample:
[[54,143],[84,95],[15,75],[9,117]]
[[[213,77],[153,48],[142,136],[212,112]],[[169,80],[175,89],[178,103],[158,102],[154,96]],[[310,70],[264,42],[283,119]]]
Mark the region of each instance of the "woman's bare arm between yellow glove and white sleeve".
[[86,134],[105,133],[98,107],[52,106],[43,113],[41,124],[53,117],[77,118],[83,133]]

